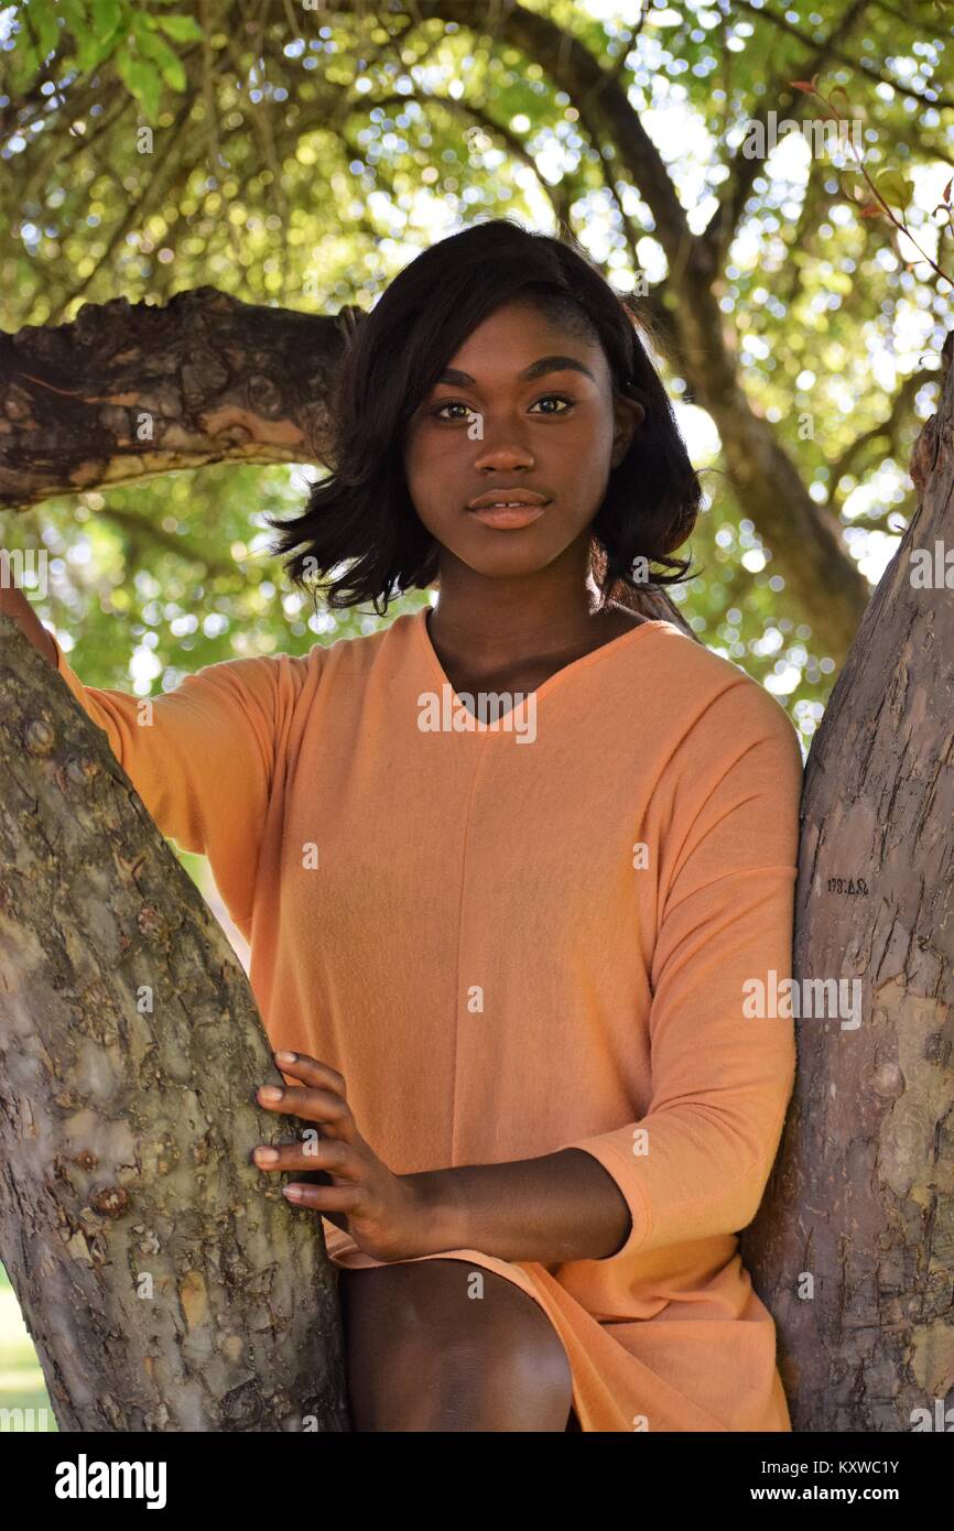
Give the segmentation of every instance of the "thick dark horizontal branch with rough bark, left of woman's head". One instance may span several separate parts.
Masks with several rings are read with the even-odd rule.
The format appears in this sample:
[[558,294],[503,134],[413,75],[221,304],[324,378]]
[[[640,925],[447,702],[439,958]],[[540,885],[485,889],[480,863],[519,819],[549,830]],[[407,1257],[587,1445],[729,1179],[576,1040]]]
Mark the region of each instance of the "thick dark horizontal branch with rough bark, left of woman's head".
[[0,334],[0,508],[227,459],[322,461],[360,312],[259,308],[205,286]]

